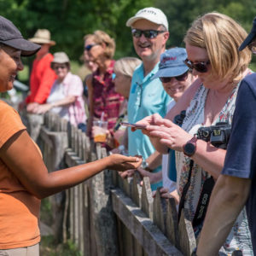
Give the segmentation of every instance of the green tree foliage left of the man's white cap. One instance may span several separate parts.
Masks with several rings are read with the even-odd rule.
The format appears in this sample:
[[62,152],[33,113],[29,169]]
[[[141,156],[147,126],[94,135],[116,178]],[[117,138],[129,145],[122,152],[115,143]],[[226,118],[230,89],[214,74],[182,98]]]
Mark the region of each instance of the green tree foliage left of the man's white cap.
[[131,30],[125,21],[152,0],[0,0],[0,15],[12,20],[25,38],[48,28],[56,45],[73,60],[83,53],[84,35],[97,29],[116,40],[115,57],[134,55]]

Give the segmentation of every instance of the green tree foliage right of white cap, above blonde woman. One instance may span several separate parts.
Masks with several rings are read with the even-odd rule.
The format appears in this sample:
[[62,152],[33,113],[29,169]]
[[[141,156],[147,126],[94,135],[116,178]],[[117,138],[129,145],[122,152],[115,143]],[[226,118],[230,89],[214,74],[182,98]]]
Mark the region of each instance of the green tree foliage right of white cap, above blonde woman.
[[229,15],[250,31],[256,14],[255,0],[154,0],[164,10],[170,26],[168,46],[183,46],[183,37],[198,16],[212,11]]

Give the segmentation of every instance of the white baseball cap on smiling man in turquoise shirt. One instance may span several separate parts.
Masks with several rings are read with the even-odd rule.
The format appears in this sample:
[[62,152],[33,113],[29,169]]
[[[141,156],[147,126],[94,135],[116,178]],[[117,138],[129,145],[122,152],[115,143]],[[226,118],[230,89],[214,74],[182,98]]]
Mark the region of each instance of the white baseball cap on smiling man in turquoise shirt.
[[166,27],[166,30],[169,29],[166,15],[160,9],[154,7],[147,7],[137,11],[135,16],[126,21],[126,26],[132,26],[135,21],[142,19],[149,20],[155,24],[163,25]]

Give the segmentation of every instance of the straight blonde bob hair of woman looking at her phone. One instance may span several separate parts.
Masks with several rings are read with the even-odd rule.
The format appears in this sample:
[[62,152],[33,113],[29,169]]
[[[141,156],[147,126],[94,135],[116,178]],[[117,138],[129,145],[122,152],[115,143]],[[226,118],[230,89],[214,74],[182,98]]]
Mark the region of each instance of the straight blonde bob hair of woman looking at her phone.
[[247,32],[235,20],[212,12],[193,22],[184,42],[207,49],[213,76],[236,82],[242,79],[242,73],[252,59],[249,49],[238,50],[246,37]]

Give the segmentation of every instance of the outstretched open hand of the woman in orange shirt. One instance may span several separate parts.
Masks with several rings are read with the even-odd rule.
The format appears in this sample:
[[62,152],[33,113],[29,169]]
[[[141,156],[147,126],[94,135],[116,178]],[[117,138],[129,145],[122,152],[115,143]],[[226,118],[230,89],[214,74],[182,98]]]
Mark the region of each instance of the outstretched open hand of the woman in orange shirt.
[[142,156],[125,156],[123,154],[111,154],[108,156],[108,169],[115,171],[126,171],[137,169],[142,164]]

